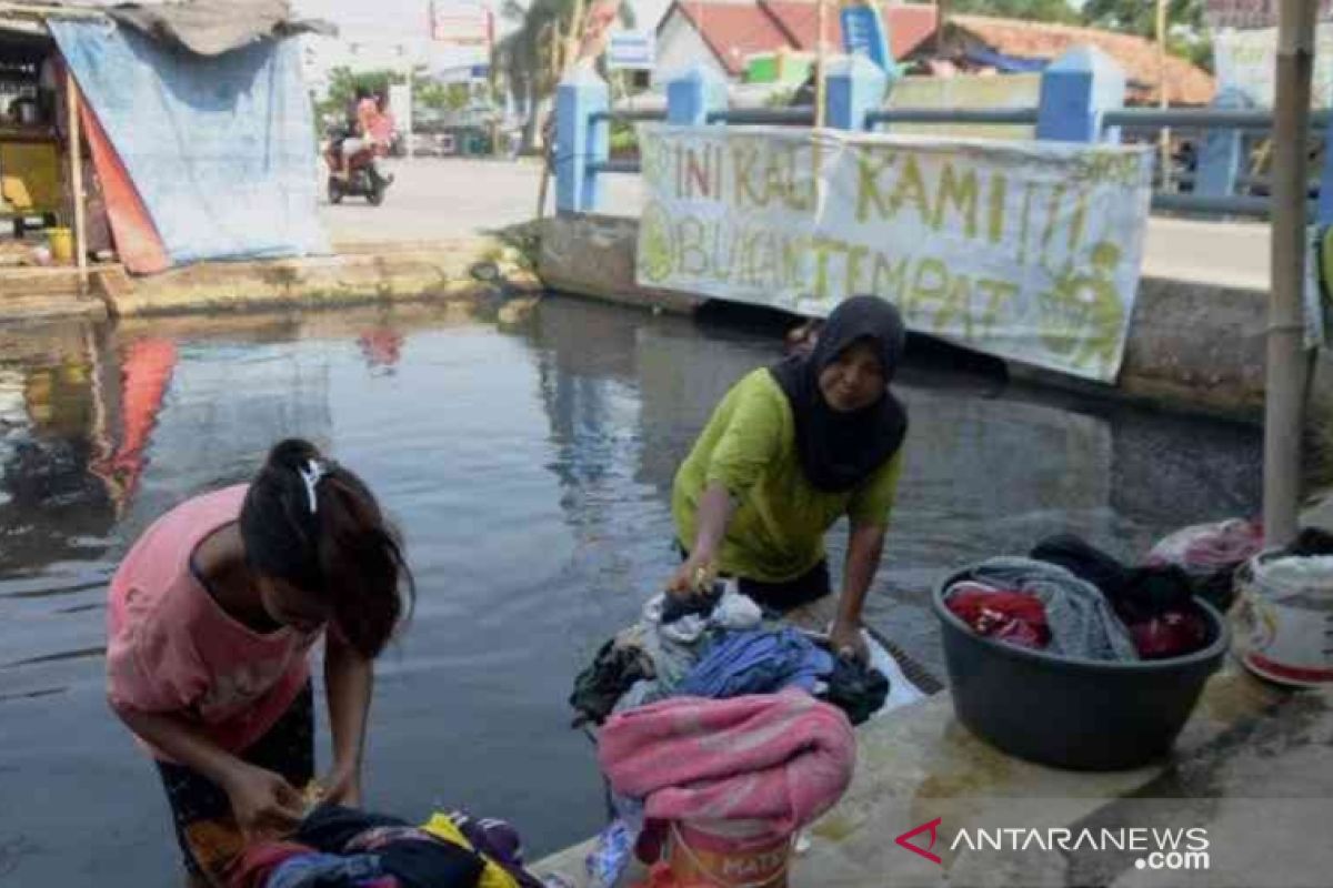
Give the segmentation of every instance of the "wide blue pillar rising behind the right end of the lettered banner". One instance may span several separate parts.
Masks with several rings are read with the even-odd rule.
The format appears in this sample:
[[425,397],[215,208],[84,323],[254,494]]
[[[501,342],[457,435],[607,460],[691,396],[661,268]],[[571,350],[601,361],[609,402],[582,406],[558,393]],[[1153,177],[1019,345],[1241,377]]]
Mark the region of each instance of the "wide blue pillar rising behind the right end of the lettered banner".
[[1125,104],[1125,72],[1094,47],[1076,47],[1041,75],[1037,138],[1062,142],[1118,142],[1120,129],[1102,114]]

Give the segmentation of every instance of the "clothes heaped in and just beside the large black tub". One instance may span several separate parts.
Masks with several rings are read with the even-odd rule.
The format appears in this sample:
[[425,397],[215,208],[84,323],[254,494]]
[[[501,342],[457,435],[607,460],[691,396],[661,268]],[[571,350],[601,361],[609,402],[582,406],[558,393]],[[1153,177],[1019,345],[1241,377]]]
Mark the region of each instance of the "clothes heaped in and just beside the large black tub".
[[1050,537],[1028,558],[982,562],[945,590],[945,604],[978,635],[1058,656],[1185,656],[1212,642],[1194,596],[1225,610],[1232,575],[1258,550],[1233,523],[1212,538],[1194,529],[1193,541],[1154,549],[1148,564],[1129,567],[1077,537]]

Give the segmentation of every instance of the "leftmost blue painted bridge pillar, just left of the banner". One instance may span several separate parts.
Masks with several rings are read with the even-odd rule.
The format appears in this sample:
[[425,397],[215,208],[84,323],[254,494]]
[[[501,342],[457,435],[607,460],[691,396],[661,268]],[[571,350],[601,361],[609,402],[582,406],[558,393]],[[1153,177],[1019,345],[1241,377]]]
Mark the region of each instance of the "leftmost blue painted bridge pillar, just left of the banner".
[[611,153],[611,89],[592,67],[572,71],[556,89],[556,210],[593,213],[601,182],[592,164]]

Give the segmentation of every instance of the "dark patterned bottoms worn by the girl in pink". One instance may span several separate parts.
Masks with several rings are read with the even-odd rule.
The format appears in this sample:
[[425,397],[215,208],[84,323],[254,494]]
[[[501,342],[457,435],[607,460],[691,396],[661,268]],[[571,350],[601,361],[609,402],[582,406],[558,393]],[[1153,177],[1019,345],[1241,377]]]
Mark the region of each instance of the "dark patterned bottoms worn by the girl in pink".
[[[297,789],[315,779],[315,692],[311,684],[268,730],[240,754],[249,764],[283,775]],[[223,884],[223,872],[244,847],[232,804],[220,785],[183,764],[157,762],[185,869]]]

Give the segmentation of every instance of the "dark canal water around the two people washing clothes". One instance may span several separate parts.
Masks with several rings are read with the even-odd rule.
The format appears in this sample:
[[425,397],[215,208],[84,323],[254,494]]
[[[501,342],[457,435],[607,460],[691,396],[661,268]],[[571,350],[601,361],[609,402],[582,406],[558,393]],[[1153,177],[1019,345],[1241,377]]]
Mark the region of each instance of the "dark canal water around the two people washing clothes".
[[[379,664],[368,807],[501,816],[533,859],[591,835],[572,679],[670,575],[674,469],[778,333],[563,298],[517,324],[400,306],[0,329],[0,885],[179,884],[157,775],[104,702],[105,586],[157,515],[287,435],[369,481],[416,572]],[[1133,558],[1257,505],[1254,430],[918,346],[868,616],[937,675],[929,592],[958,564],[1057,531]]]

